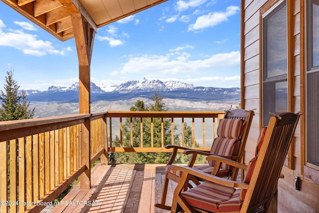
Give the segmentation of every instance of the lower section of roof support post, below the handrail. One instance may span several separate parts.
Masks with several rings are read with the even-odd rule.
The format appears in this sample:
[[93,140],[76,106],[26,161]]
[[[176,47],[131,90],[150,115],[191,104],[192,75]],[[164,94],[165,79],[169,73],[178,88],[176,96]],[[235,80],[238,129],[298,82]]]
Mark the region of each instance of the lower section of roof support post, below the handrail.
[[85,166],[84,173],[80,176],[81,189],[88,190],[91,188],[91,148],[90,148],[90,118],[86,118],[81,125],[81,162]]

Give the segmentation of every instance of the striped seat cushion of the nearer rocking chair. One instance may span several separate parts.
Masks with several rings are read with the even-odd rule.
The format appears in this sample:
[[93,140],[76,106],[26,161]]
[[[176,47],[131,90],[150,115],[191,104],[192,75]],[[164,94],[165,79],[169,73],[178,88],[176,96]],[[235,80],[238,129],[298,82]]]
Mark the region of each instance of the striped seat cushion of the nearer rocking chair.
[[239,200],[240,189],[236,190],[208,181],[181,195],[190,206],[211,212],[237,213],[242,206]]

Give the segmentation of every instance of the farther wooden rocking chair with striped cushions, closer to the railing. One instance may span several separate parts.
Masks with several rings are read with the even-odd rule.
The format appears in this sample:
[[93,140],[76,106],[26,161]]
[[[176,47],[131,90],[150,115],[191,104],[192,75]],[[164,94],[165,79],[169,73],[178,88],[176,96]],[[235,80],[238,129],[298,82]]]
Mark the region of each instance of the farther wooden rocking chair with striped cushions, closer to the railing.
[[[172,163],[176,157],[178,149],[185,150],[184,154],[191,154],[191,159],[187,165],[188,167],[194,167],[208,174],[213,171],[214,162],[208,161],[207,165],[194,166],[197,155],[219,155],[230,158],[237,162],[241,162],[253,116],[254,111],[252,110],[247,111],[244,109],[233,109],[226,111],[223,119],[219,121],[219,125],[217,128],[218,137],[214,139],[210,151],[198,151],[175,145],[165,146],[165,148],[173,148],[173,150],[165,168],[166,172],[162,189],[161,203],[155,204],[155,207],[164,210],[170,210],[170,206],[165,205],[168,181],[171,180],[178,183],[181,176],[181,172],[171,171],[172,166],[174,166]],[[228,165],[223,164],[221,165],[217,176],[230,177],[232,180],[236,180],[237,174],[237,168],[229,167]],[[192,182],[194,182],[196,185],[199,184],[197,179],[193,179]],[[188,187],[191,188],[192,186],[189,185]],[[185,188],[185,190],[186,189],[187,187]]]

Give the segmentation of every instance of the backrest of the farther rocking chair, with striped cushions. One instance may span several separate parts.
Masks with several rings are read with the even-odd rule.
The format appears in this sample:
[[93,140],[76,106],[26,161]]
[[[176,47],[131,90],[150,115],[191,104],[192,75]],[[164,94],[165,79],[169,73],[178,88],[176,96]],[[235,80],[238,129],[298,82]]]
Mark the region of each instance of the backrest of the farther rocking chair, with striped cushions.
[[[237,156],[237,162],[241,162],[245,145],[248,138],[249,129],[254,116],[253,110],[232,109],[224,114],[224,118],[219,121],[217,127],[217,138],[214,139],[210,153],[221,156]],[[226,143],[225,143],[226,142]],[[213,162],[208,162],[214,166]],[[228,168],[222,164],[223,169]],[[238,169],[232,171],[232,180],[236,180]]]

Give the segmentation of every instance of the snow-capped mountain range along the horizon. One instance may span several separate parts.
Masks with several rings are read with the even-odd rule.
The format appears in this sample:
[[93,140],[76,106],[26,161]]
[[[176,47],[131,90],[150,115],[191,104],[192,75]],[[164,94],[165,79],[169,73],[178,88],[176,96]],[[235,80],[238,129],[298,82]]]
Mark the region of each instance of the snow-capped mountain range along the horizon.
[[[240,101],[240,88],[195,87],[179,81],[132,80],[116,84],[91,82],[91,102],[120,101],[132,98],[150,98],[155,92],[168,99],[187,101]],[[45,91],[25,90],[30,102],[78,103],[79,83],[71,86],[50,86]]]

